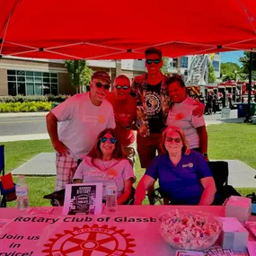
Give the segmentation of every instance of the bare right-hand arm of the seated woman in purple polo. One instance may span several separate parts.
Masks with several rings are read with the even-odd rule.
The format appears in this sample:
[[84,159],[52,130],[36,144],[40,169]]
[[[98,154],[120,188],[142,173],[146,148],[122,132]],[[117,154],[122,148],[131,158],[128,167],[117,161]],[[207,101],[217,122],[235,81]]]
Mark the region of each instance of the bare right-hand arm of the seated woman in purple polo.
[[215,198],[216,185],[213,177],[202,178],[201,184],[204,187],[199,206],[210,206]]

